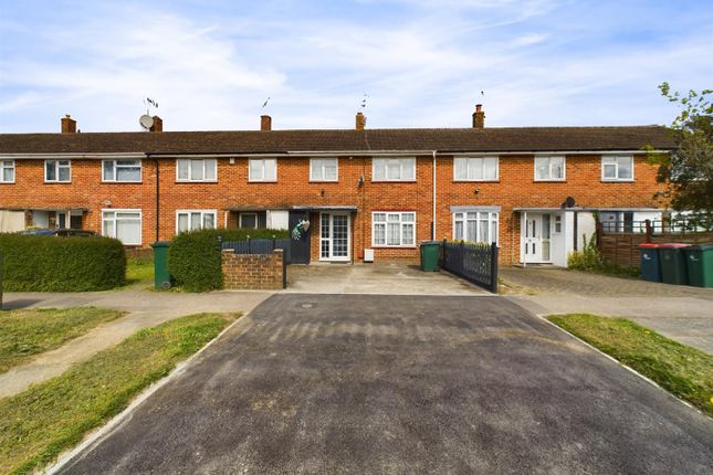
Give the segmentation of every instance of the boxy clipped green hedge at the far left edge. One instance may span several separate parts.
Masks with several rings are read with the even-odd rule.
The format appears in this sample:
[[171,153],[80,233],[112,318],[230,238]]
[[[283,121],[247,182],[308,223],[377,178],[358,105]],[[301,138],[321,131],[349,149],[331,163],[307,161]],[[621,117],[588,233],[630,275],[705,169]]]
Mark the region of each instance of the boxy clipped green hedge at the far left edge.
[[108,238],[0,234],[6,292],[105,291],[124,284],[126,253]]

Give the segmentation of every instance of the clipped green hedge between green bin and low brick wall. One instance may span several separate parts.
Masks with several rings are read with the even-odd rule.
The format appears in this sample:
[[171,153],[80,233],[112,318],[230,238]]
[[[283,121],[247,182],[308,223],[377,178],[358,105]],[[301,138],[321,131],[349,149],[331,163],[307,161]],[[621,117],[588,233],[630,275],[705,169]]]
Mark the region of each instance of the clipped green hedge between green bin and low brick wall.
[[287,238],[282,230],[201,230],[178,234],[168,247],[168,270],[177,285],[189,292],[222,288],[218,236],[226,241]]

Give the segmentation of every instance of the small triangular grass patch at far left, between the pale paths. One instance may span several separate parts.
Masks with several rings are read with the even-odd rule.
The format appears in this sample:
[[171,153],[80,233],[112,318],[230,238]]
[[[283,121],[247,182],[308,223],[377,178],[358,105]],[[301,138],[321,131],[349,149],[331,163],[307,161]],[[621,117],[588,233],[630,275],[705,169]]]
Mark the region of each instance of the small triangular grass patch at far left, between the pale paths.
[[0,373],[123,315],[94,307],[0,312]]

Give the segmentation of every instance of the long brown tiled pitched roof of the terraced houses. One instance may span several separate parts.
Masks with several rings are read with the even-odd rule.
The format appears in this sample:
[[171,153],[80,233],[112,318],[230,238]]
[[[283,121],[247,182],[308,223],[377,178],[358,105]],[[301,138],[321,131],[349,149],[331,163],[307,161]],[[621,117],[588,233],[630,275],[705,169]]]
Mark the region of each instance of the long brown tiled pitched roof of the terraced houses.
[[675,148],[661,126],[0,134],[0,154],[290,151],[577,151]]

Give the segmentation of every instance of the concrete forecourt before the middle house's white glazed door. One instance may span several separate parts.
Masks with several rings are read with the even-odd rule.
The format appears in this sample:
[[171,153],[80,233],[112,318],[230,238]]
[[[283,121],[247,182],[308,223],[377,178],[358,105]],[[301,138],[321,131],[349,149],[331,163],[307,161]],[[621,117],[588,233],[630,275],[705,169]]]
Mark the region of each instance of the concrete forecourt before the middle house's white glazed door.
[[287,291],[308,294],[487,295],[445,272],[402,264],[311,264],[287,268]]

